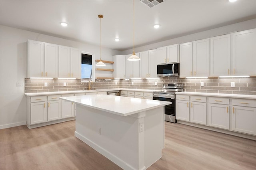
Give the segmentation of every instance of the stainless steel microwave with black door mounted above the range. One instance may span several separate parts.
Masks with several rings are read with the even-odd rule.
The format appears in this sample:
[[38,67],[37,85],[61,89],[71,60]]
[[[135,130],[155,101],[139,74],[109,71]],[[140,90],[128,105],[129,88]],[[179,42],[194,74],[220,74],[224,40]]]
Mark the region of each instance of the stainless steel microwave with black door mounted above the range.
[[180,75],[180,63],[173,64],[158,64],[157,65],[158,76],[179,76]]

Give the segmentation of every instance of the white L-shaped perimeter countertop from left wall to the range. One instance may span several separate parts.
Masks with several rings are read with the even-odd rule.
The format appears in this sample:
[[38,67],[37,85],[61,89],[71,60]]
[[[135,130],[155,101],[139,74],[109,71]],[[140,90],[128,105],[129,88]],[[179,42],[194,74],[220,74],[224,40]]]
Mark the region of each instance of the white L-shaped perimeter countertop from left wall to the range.
[[140,91],[140,92],[153,92],[157,90],[146,90],[146,89],[98,89],[98,90],[79,90],[79,91],[56,91],[56,92],[42,92],[42,93],[25,93],[26,96],[41,96],[41,95],[59,95],[59,94],[70,94],[70,93],[90,93],[90,92],[100,92],[100,91],[114,91],[114,90],[123,90],[123,91]]

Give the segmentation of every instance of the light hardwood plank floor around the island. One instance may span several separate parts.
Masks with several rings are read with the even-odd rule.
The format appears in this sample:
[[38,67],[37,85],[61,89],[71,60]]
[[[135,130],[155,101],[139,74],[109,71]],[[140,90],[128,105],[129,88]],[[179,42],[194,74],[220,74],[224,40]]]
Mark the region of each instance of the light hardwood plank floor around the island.
[[[119,170],[74,136],[75,121],[0,130],[1,170]],[[162,158],[148,170],[256,170],[256,141],[165,122]]]

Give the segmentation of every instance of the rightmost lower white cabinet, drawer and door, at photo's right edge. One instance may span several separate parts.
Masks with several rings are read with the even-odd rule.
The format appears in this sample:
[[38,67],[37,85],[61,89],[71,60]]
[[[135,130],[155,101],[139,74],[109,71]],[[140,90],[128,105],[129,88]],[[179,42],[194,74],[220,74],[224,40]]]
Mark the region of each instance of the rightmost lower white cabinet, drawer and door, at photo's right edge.
[[232,100],[232,130],[256,135],[255,100]]

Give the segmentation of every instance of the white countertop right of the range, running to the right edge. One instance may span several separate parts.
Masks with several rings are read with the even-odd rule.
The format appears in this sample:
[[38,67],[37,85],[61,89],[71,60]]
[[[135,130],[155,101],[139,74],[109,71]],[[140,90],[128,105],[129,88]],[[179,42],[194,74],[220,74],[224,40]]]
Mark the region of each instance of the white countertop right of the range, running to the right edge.
[[233,95],[233,94],[221,94],[221,93],[198,93],[198,92],[177,92],[176,95],[198,95],[198,96],[210,96],[210,97],[228,97],[228,98],[240,98],[240,99],[256,99],[256,95]]

